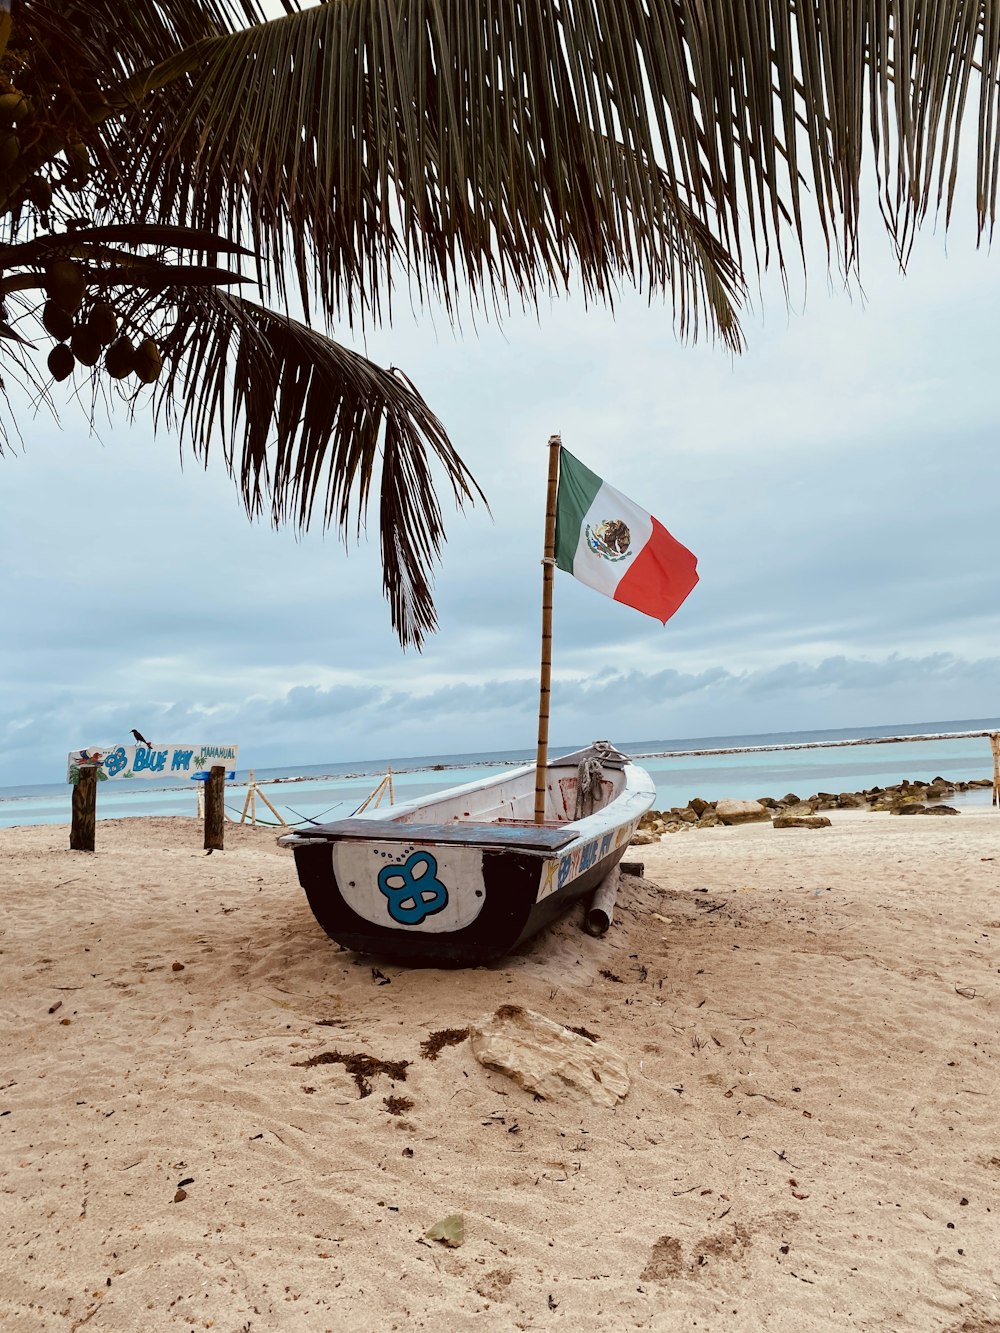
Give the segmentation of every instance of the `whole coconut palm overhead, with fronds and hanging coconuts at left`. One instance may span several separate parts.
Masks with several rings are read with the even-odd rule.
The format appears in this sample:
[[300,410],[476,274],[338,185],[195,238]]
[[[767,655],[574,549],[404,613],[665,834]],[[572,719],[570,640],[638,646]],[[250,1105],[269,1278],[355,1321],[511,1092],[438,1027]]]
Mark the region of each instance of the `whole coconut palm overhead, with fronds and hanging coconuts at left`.
[[419,644],[433,468],[477,488],[335,331],[400,288],[455,317],[639,284],[739,349],[807,212],[852,269],[867,164],[901,260],[951,217],[967,119],[992,231],[999,69],[1000,0],[0,0],[0,355],[151,400],[276,523],[347,533],[377,477]]

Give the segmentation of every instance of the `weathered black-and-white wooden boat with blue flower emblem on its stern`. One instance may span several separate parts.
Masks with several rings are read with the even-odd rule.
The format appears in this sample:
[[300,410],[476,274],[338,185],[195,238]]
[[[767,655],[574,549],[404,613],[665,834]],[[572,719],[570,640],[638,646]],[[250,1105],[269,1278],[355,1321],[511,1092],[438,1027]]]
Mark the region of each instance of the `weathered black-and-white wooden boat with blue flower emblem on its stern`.
[[492,962],[591,893],[653,804],[648,773],[607,741],[423,800],[284,834],[337,944],[407,962]]

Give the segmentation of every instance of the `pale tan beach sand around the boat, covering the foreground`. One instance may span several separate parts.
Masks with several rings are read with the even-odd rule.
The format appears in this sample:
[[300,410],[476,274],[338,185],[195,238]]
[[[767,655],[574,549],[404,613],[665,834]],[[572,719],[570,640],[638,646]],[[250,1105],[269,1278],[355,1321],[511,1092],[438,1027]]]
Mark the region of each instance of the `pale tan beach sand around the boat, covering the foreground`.
[[[468,972],[340,950],[272,830],[0,832],[0,1326],[1000,1330],[1000,813],[833,818]],[[509,1002],[625,1100],[421,1053]]]

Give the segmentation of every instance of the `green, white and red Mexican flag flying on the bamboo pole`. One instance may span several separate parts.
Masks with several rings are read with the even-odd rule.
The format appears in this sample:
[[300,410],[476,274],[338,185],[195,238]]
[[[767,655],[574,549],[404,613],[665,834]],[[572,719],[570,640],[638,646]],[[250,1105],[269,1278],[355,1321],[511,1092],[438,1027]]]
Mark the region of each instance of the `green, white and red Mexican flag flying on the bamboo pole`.
[[556,565],[664,624],[697,583],[687,547],[561,448]]

